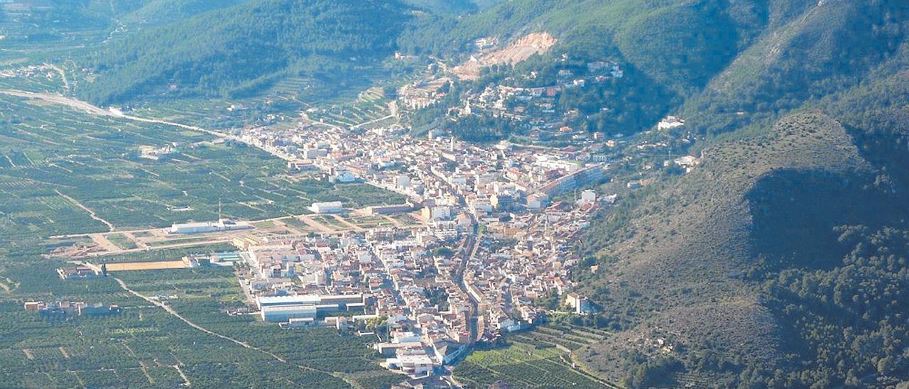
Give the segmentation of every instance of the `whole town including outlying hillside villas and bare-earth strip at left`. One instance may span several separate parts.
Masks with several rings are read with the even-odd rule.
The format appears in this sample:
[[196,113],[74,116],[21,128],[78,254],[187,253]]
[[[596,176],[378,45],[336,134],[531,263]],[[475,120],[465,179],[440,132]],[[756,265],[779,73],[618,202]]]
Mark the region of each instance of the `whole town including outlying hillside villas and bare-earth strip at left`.
[[[309,204],[308,214],[236,222],[221,217],[219,204],[215,221],[90,234],[95,244],[55,253],[84,260],[58,274],[67,280],[231,266],[246,307],[227,314],[255,314],[288,330],[331,326],[375,337],[389,370],[414,378],[445,374],[476,344],[494,344],[552,314],[595,314],[598,307],[575,291],[571,276],[582,261],[576,245],[590,218],[653,183],[652,161],[683,173],[700,164],[693,155],[664,157],[667,139],[687,139],[670,134],[684,130],[684,119],[675,116],[653,131],[609,139],[570,126],[576,113],[555,112],[555,95],[623,77],[614,62],[587,64],[584,71],[580,77],[562,72],[554,86],[486,88],[454,108],[459,117],[514,113],[512,119],[532,125],[534,139],[568,136],[570,145],[561,147],[465,142],[439,129],[414,135],[399,124],[334,125],[305,113],[296,125],[213,132],[213,144],[240,142],[281,158],[288,176],[372,185],[402,200],[365,207],[321,201]],[[409,110],[436,104],[447,82],[429,82],[422,95],[405,86],[396,103]],[[138,156],[157,162],[195,146],[141,146]],[[635,159],[643,165],[629,171]],[[117,249],[115,240],[130,248]],[[113,264],[102,256],[200,243],[235,250]],[[166,304],[176,297],[151,298]],[[555,310],[544,303],[553,298]]]

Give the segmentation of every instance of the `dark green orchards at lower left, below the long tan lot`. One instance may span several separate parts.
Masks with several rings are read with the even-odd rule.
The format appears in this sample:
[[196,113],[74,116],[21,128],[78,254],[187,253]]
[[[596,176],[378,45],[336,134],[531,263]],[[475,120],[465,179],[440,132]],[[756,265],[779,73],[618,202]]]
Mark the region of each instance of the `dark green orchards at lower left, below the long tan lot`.
[[[283,331],[255,316],[229,316],[241,304],[231,269],[123,272],[140,294],[168,295],[167,304],[195,324],[259,347],[205,334],[161,307],[129,294],[112,277],[61,281],[51,267],[0,268],[16,280],[0,291],[0,382],[11,387],[349,387],[369,377],[395,378],[360,338],[334,330]],[[108,318],[47,320],[22,309],[29,300],[118,304]],[[286,362],[281,362],[274,353]],[[400,379],[400,376],[397,377]]]

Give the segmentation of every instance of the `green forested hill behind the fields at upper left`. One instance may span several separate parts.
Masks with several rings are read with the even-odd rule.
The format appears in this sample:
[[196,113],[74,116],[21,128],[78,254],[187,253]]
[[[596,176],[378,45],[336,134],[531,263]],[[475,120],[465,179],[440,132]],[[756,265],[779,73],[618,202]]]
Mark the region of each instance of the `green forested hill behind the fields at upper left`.
[[405,5],[256,0],[129,35],[100,49],[80,94],[98,104],[136,97],[238,95],[279,75],[337,85],[394,53]]

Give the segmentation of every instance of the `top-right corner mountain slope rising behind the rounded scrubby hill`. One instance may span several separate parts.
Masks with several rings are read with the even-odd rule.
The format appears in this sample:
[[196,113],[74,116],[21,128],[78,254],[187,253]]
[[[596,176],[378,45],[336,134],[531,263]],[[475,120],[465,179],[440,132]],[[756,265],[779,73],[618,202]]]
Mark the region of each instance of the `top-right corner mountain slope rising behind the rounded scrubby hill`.
[[772,13],[754,45],[684,106],[691,125],[702,134],[720,134],[773,120],[805,101],[858,85],[904,43],[904,2],[820,4],[797,16]]

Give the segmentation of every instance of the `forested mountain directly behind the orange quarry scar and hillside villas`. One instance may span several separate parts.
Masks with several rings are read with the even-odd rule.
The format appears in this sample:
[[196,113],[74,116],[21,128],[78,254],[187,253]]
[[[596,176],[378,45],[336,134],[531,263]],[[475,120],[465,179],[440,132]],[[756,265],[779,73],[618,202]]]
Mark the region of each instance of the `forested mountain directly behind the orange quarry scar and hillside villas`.
[[555,44],[548,51],[514,69],[490,69],[475,85],[529,74],[535,74],[537,85],[532,86],[555,85],[560,71],[583,75],[586,64],[614,61],[624,70],[621,82],[566,92],[558,105],[582,115],[577,125],[584,128],[629,135],[650,129],[688,96],[700,93],[763,31],[765,12],[746,5],[515,0],[472,15],[417,15],[398,45],[405,52],[459,64],[469,60],[478,38],[493,37],[505,46],[534,33],[552,35]]

